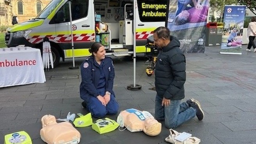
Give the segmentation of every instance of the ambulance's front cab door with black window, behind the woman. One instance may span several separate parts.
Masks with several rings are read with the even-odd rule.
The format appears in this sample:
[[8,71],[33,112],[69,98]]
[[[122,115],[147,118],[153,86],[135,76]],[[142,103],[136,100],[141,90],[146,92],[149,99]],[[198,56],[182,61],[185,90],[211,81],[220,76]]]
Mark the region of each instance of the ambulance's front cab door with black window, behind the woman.
[[[82,48],[90,48],[91,42],[95,39],[94,30],[94,11],[92,0],[72,0],[72,30],[75,49],[75,57],[83,57],[87,55]],[[89,11],[90,10],[90,11]],[[65,57],[72,57],[71,51],[71,30],[69,18],[69,2],[66,2],[56,14],[64,14],[64,20],[55,23],[56,40],[64,49]]]

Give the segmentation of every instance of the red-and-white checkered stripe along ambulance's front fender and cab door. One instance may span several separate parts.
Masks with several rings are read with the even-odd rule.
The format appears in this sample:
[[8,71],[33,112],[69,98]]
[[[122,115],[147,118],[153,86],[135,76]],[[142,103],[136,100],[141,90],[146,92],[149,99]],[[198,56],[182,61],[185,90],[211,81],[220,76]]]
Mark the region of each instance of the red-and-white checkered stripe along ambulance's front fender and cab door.
[[[32,36],[28,37],[27,40],[30,43],[41,43],[43,42],[44,37],[48,37],[50,41],[55,43],[68,43],[71,42],[71,34],[59,34],[59,35],[41,35],[41,36]],[[74,42],[87,42],[94,41],[94,33],[92,34],[73,34]]]

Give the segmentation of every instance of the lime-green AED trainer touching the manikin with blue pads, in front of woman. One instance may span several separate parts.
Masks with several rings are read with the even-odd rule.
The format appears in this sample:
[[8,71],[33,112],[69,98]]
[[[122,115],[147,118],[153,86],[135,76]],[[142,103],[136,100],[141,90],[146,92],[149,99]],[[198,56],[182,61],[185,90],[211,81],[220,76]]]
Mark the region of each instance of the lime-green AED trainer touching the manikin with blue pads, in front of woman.
[[119,124],[116,121],[109,118],[98,119],[92,123],[92,129],[100,134],[112,132],[116,130],[118,126]]

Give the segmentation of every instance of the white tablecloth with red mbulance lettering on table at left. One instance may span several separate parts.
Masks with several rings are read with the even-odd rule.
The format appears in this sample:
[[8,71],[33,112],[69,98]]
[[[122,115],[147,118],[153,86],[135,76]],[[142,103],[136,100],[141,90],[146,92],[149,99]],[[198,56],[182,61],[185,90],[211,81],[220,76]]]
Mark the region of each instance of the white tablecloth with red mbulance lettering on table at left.
[[36,48],[0,51],[0,87],[44,83],[41,52]]

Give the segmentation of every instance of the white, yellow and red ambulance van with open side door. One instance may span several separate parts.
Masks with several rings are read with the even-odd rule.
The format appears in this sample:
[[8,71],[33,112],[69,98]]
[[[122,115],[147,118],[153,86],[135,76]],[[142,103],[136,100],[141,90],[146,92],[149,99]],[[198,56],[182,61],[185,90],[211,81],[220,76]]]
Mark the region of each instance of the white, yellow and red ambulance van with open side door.
[[[136,21],[136,53],[146,51],[146,39],[156,27],[165,25],[167,0],[72,0],[71,18],[74,56],[91,55],[88,48],[95,41],[104,44],[106,55],[133,53],[133,22]],[[133,14],[136,20],[133,20]],[[8,47],[25,44],[41,49],[44,37],[50,39],[54,67],[60,57],[73,57],[69,0],[52,0],[36,18],[7,28]]]

